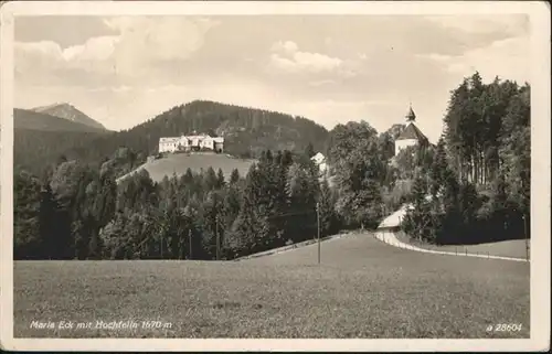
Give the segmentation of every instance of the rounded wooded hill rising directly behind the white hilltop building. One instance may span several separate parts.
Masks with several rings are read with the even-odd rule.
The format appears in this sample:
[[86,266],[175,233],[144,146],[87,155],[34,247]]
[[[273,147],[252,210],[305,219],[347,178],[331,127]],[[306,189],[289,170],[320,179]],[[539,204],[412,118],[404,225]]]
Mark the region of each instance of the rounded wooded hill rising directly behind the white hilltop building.
[[67,158],[98,162],[119,147],[127,147],[141,158],[157,151],[159,138],[209,132],[224,136],[225,152],[236,157],[257,157],[261,151],[302,151],[309,142],[316,151],[323,148],[328,130],[314,121],[289,115],[195,100],[172,107],[131,129],[98,137],[87,147],[66,152]]

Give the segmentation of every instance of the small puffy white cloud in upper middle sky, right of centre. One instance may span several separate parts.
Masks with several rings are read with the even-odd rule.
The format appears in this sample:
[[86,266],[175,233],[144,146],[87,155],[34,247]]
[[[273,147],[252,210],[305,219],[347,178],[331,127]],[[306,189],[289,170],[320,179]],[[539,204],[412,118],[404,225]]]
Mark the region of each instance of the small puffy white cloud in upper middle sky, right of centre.
[[343,61],[320,53],[301,52],[295,42],[277,42],[272,46],[270,65],[289,73],[321,73],[338,69]]

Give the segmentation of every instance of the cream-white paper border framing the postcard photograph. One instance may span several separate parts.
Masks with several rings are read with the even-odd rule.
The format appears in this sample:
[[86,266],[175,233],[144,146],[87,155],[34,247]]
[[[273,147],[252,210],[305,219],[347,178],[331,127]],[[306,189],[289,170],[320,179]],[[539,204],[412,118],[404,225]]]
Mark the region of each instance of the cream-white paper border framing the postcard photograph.
[[[7,350],[116,351],[545,351],[550,348],[550,8],[537,1],[177,2],[22,1],[1,15],[1,302],[0,344]],[[531,19],[531,339],[530,340],[65,340],[13,339],[12,170],[13,17],[159,14],[459,14],[527,13]]]

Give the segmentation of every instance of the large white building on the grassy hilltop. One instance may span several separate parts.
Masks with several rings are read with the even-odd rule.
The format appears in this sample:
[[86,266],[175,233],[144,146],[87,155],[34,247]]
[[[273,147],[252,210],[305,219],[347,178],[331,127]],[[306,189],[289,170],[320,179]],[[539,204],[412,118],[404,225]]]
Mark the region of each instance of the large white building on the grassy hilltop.
[[223,137],[210,137],[205,133],[159,139],[159,152],[199,150],[212,150],[215,152],[222,152],[223,149]]

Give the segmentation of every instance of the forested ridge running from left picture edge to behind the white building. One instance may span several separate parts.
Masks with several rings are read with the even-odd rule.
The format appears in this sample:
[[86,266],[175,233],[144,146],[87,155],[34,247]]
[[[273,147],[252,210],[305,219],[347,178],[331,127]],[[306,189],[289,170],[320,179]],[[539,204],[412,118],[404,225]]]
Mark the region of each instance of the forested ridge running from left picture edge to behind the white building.
[[197,100],[172,107],[128,130],[86,137],[66,135],[60,148],[55,148],[62,140],[60,133],[45,135],[34,144],[35,133],[17,132],[22,141],[14,147],[15,164],[40,173],[63,153],[70,160],[98,168],[120,147],[131,149],[144,163],[157,152],[159,138],[193,131],[224,136],[225,152],[238,158],[258,158],[265,150],[302,151],[309,142],[321,151],[328,138],[326,128],[302,117]]

